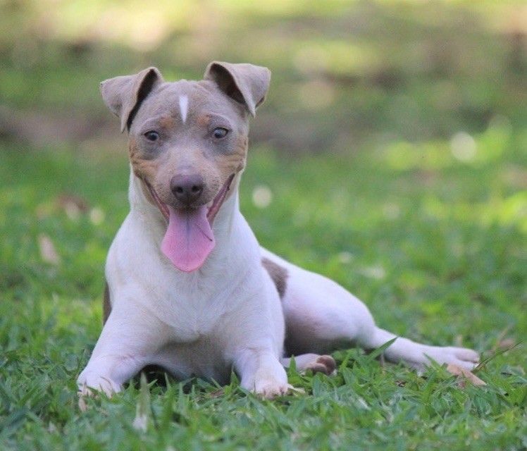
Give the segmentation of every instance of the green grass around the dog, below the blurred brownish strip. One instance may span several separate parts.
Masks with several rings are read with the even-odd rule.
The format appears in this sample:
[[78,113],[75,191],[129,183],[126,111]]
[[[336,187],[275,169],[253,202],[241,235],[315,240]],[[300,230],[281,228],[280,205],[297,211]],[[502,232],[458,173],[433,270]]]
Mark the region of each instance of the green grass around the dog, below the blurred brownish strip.
[[525,449],[527,133],[495,127],[468,161],[447,142],[302,159],[260,147],[242,190],[263,245],[338,280],[384,328],[496,354],[478,371],[486,386],[342,350],[333,378],[289,370],[305,394],[268,402],[235,378],[220,389],[160,375],[87,400],[85,413],[75,379],[101,329],[126,157],[4,144],[0,449]]

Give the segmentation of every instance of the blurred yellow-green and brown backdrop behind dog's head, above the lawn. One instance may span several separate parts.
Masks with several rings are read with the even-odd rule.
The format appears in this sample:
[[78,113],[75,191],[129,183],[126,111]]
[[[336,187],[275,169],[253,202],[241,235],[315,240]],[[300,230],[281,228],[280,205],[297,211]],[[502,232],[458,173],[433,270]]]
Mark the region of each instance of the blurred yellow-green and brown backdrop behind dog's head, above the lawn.
[[2,0],[0,137],[110,147],[99,81],[213,59],[271,68],[252,139],[280,152],[457,139],[463,159],[490,124],[527,126],[524,1]]

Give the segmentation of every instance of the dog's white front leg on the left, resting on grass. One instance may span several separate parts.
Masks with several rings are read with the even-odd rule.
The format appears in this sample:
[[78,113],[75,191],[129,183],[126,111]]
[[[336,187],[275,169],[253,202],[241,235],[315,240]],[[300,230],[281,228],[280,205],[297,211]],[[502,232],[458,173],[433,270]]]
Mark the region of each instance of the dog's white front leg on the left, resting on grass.
[[118,393],[148,362],[147,350],[153,347],[151,332],[139,326],[130,315],[113,311],[104,325],[92,357],[77,378],[79,394]]

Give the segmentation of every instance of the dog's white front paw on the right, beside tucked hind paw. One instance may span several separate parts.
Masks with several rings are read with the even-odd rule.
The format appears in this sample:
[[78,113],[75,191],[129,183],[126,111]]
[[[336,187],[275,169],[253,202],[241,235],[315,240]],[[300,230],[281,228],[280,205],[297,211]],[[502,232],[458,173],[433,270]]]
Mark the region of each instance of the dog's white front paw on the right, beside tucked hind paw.
[[235,357],[235,371],[242,388],[271,399],[285,395],[292,386],[287,383],[285,369],[278,357],[266,348],[249,347]]

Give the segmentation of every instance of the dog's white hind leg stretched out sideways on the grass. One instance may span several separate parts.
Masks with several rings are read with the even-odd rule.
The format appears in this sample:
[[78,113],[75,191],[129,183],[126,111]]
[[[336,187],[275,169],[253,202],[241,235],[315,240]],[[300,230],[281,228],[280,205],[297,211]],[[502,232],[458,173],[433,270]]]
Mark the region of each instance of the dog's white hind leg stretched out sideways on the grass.
[[406,362],[416,368],[426,366],[430,359],[469,369],[477,364],[478,354],[472,350],[422,345],[378,328],[368,308],[333,280],[289,264],[268,251],[263,255],[287,271],[282,299],[285,350],[295,356],[297,367],[309,365],[303,354],[315,353],[309,359],[316,362],[320,354],[354,346],[373,350],[394,339],[383,353],[389,362]]

